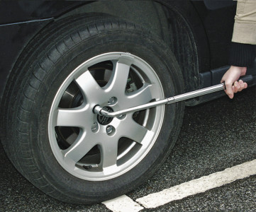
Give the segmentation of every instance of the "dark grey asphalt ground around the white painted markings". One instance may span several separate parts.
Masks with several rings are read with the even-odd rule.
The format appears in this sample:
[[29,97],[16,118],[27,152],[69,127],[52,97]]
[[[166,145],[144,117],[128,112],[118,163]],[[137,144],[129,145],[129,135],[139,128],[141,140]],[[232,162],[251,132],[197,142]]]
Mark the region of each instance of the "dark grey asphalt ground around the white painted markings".
[[[256,87],[188,107],[174,151],[135,191],[135,201],[162,189],[256,159]],[[65,204],[46,196],[11,165],[0,146],[0,211],[109,211],[104,204]],[[256,175],[143,211],[255,211]]]

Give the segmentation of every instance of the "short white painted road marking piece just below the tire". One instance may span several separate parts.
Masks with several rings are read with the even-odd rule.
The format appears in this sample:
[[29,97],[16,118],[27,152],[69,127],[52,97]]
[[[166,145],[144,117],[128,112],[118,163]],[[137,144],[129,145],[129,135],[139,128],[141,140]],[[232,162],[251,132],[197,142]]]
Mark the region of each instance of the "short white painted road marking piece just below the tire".
[[144,209],[140,204],[126,195],[104,201],[103,204],[113,212],[138,212]]

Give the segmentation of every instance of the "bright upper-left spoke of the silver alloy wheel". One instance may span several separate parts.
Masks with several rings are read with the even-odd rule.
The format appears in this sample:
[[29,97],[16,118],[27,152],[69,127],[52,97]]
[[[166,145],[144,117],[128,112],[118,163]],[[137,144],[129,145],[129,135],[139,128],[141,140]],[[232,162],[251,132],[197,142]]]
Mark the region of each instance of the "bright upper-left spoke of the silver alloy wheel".
[[87,102],[95,102],[104,97],[104,90],[99,86],[89,71],[85,71],[76,80]]

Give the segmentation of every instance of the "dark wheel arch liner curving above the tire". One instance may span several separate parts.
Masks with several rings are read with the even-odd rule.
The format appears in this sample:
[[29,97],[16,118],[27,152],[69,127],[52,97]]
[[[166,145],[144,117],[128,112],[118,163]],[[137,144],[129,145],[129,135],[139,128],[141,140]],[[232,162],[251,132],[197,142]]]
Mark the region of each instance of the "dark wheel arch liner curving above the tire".
[[[172,49],[179,63],[185,91],[200,87],[199,72],[208,69],[209,55],[205,48],[208,42],[201,20],[191,1],[182,1],[182,4],[179,1],[165,0],[94,1],[59,18],[95,12],[118,16],[130,23],[142,25],[160,37]],[[199,57],[203,55],[204,58],[200,61]]]

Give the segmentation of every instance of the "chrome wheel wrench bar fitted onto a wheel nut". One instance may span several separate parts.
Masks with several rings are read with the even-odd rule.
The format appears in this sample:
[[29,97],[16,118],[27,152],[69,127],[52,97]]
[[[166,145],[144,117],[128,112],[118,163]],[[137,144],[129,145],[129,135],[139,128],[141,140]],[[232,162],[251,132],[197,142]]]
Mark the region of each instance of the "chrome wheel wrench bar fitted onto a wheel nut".
[[[252,76],[246,76],[245,78],[243,78],[243,81],[247,81],[249,78],[251,79]],[[102,116],[105,116],[105,117],[119,117],[119,116],[121,116],[123,114],[127,114],[129,112],[136,112],[136,111],[139,111],[139,110],[145,110],[145,109],[149,109],[151,107],[156,107],[158,105],[169,105],[169,104],[173,104],[175,102],[189,100],[191,98],[196,98],[196,97],[199,97],[201,95],[206,95],[206,94],[209,94],[209,93],[214,93],[214,92],[217,92],[219,90],[225,90],[225,89],[226,89],[225,83],[221,83],[221,84],[218,84],[216,86],[211,86],[211,87],[208,87],[208,88],[202,88],[202,89],[199,89],[199,90],[194,90],[194,91],[191,91],[189,93],[184,93],[184,94],[181,94],[181,95],[175,95],[173,97],[166,98],[164,100],[157,100],[155,102],[149,102],[149,103],[146,103],[146,104],[143,104],[143,105],[130,107],[130,108],[127,108],[127,109],[124,109],[124,110],[118,110],[118,111],[115,111],[115,112],[108,112],[107,110],[104,110],[104,108],[101,107],[100,105],[95,105],[94,109],[93,109],[93,112],[95,114],[99,114],[99,115],[102,115]]]

